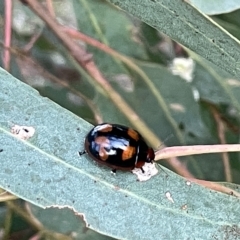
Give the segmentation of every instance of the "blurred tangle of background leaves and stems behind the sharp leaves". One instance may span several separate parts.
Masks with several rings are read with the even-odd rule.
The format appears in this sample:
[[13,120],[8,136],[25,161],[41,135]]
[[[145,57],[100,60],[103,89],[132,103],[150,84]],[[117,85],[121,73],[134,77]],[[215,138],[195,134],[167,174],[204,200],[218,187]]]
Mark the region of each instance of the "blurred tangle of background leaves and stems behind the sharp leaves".
[[[6,11],[6,1],[0,1],[1,67],[37,89],[42,96],[92,124],[113,122],[137,128],[130,123],[127,110],[120,109],[109,99],[105,89],[76,63],[54,32],[23,4],[24,1],[11,1],[11,12]],[[93,61],[114,91],[165,145],[239,142],[239,79],[107,1],[40,2],[52,18],[65,26],[69,37],[92,54]],[[221,7],[203,4],[204,1],[192,2],[240,38],[237,1],[223,1],[228,4]],[[201,4],[205,8],[201,8]],[[9,63],[3,54],[7,14],[12,19]],[[87,40],[73,34],[72,29],[88,36]],[[91,39],[96,40],[94,46]],[[148,139],[145,129],[137,130]],[[181,164],[197,178],[239,183],[239,160],[238,153],[206,154],[181,158]],[[230,173],[226,173],[226,162]],[[163,164],[178,172],[167,161]],[[67,210],[64,219],[72,223],[69,228],[66,221],[57,220],[63,218],[57,215],[58,211],[31,205],[28,206],[31,211],[27,211],[21,200],[17,200],[16,206],[7,202],[0,205],[0,239],[30,239],[34,234],[36,239],[101,239],[92,235],[84,224],[79,227],[79,219]],[[34,221],[29,220],[29,216]],[[52,216],[55,220],[49,223]],[[54,222],[57,226],[51,225]]]

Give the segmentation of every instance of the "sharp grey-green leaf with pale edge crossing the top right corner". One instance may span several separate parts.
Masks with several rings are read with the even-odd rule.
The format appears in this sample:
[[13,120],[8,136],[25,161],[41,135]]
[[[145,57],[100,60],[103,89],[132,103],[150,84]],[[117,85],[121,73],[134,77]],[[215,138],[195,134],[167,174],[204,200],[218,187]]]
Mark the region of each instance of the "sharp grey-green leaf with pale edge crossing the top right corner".
[[239,41],[187,1],[110,0],[232,75],[240,75]]

